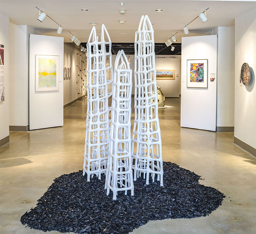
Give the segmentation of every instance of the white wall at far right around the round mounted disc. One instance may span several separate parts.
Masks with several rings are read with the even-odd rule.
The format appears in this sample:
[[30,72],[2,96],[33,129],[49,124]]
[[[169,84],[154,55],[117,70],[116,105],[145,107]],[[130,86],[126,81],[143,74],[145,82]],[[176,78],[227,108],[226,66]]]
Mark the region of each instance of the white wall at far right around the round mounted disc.
[[[234,142],[256,148],[256,8],[235,19]],[[251,67],[248,86],[239,83],[243,63]],[[252,149],[253,150],[253,149]],[[253,153],[253,152],[252,152]]]

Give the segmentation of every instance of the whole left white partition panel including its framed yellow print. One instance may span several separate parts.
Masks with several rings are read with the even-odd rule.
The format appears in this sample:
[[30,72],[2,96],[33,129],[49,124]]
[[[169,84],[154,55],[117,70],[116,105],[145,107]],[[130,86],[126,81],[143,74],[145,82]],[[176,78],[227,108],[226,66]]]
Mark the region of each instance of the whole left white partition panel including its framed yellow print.
[[29,130],[63,126],[63,38],[30,34]]

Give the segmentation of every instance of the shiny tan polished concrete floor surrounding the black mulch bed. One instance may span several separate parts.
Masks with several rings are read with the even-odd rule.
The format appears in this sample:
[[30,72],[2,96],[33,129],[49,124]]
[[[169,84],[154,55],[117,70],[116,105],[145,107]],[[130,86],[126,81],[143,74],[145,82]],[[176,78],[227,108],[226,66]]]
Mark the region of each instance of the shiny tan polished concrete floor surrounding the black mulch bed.
[[[168,98],[159,109],[163,160],[201,175],[201,184],[227,197],[207,217],[150,221],[132,234],[255,234],[256,159],[233,144],[233,133],[180,127],[180,99]],[[43,233],[25,228],[22,216],[43,195],[55,177],[82,169],[86,102],[64,109],[64,126],[12,132],[1,147],[1,234]],[[164,204],[163,204],[164,205]],[[58,232],[53,232],[58,233]]]

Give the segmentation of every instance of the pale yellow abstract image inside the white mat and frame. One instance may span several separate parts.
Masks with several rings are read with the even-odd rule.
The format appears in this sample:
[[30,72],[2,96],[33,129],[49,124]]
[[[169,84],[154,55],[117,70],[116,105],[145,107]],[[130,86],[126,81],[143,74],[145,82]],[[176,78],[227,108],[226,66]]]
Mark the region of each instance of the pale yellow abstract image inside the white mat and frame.
[[38,87],[56,87],[57,66],[54,58],[38,59]]

